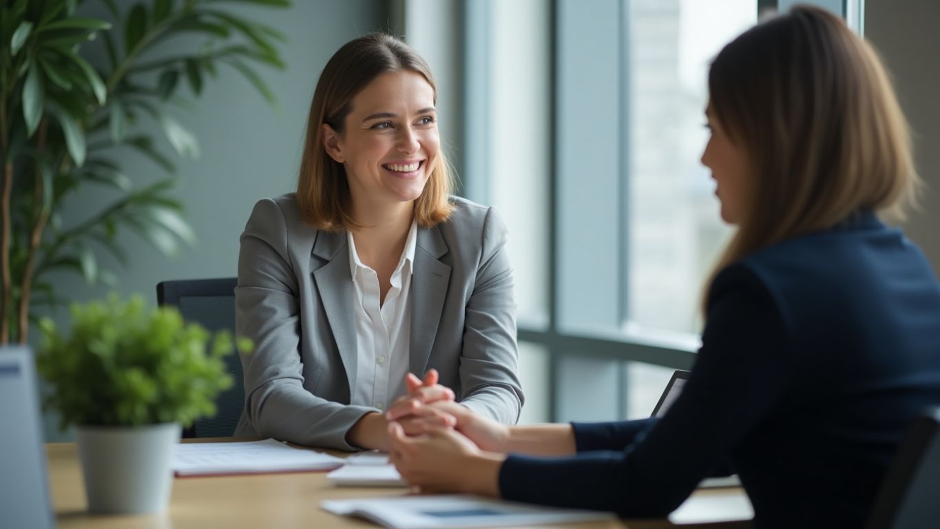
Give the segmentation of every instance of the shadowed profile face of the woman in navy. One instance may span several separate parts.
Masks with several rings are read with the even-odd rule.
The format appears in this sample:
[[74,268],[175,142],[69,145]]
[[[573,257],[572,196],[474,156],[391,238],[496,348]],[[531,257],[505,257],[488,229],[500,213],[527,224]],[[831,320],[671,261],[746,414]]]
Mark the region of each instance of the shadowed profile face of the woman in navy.
[[728,132],[713,116],[711,105],[705,110],[705,117],[712,135],[705,145],[701,162],[712,170],[712,178],[717,184],[714,194],[721,201],[721,218],[736,225],[742,220],[748,199],[745,189],[749,170],[747,156],[744,148],[731,141]]

